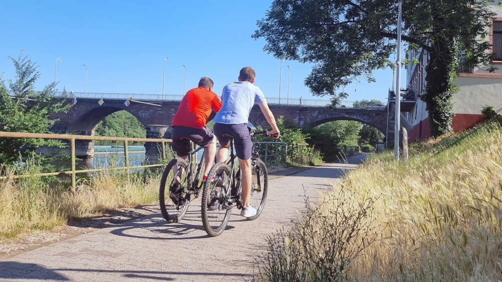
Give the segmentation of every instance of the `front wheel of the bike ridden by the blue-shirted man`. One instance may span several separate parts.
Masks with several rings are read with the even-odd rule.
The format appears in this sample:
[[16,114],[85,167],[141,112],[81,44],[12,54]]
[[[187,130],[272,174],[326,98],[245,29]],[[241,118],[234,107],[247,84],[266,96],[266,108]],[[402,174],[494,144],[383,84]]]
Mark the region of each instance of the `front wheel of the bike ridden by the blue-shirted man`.
[[[258,175],[258,171],[260,171],[260,175]],[[260,177],[260,186],[258,186],[258,177]],[[260,216],[265,206],[265,200],[267,200],[269,171],[267,170],[267,165],[262,160],[259,160],[257,166],[253,168],[251,179],[253,182],[251,183],[251,197],[249,198],[249,203],[252,207],[256,208],[256,215],[248,217],[248,220],[257,219]]]

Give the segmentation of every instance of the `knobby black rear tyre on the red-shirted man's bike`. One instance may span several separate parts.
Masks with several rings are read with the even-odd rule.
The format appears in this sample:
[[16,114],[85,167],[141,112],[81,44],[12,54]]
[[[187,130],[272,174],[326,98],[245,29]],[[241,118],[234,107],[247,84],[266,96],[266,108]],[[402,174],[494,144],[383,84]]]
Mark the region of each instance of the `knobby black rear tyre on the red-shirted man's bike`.
[[[166,199],[169,200],[169,188],[171,187],[171,184],[173,183],[174,180],[174,172],[172,172],[173,167],[175,165],[180,165],[183,168],[183,173],[181,174],[181,179],[180,183],[188,183],[188,179],[183,179],[183,175],[186,178],[188,176],[187,173],[187,168],[188,164],[185,160],[181,158],[176,158],[172,159],[169,164],[166,166],[166,169],[164,170],[164,173],[162,174],[162,179],[160,181],[160,188],[159,188],[159,203],[160,203],[160,210],[162,212],[162,216],[166,219],[168,223],[174,223],[174,222],[179,222],[183,216],[185,216],[185,213],[187,212],[188,206],[190,205],[190,201],[185,201],[185,203],[180,207],[180,209],[176,209],[175,206],[172,208],[168,208],[168,205],[166,204]],[[173,179],[168,179],[171,174],[171,177]],[[167,183],[169,180],[169,183]],[[168,186],[168,189],[166,191],[166,185]],[[185,184],[186,185],[186,184]],[[183,195],[186,195],[186,187],[181,187],[183,188]],[[167,193],[167,195],[166,195]],[[173,203],[174,204],[174,203]],[[169,211],[168,211],[169,209]]]

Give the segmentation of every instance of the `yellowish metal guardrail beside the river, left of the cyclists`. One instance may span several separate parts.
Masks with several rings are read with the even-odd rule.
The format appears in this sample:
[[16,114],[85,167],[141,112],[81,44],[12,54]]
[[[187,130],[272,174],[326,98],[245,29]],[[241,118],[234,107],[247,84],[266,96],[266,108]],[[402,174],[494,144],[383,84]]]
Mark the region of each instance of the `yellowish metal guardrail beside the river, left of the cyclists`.
[[[88,135],[66,135],[66,134],[47,134],[47,133],[25,133],[25,132],[3,132],[0,131],[0,138],[41,138],[41,139],[59,139],[59,140],[70,140],[71,147],[71,170],[58,171],[58,172],[47,172],[47,173],[34,173],[34,174],[23,174],[23,175],[12,175],[12,176],[0,176],[0,179],[8,178],[22,178],[28,176],[51,176],[51,175],[67,175],[71,174],[71,186],[73,189],[76,187],[76,174],[85,172],[97,172],[97,171],[108,171],[108,170],[118,170],[118,169],[133,169],[133,168],[146,168],[146,167],[157,167],[164,166],[163,164],[150,164],[150,165],[137,165],[129,166],[129,150],[128,142],[155,142],[162,143],[162,158],[166,158],[166,142],[172,142],[171,139],[155,139],[155,138],[129,138],[129,137],[106,137],[106,136],[88,136]],[[109,167],[109,168],[96,168],[96,169],[75,169],[75,140],[107,140],[107,141],[123,141],[124,145],[124,166],[122,167]],[[129,174],[128,174],[129,177]]]

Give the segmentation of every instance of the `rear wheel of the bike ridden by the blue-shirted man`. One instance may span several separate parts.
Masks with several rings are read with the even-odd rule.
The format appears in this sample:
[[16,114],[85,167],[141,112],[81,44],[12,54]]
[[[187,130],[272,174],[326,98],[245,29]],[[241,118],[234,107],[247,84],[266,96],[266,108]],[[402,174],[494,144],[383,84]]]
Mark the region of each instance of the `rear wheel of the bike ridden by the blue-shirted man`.
[[222,207],[228,189],[230,167],[224,162],[216,163],[207,175],[201,199],[202,225],[211,237],[221,234],[228,224],[231,208]]

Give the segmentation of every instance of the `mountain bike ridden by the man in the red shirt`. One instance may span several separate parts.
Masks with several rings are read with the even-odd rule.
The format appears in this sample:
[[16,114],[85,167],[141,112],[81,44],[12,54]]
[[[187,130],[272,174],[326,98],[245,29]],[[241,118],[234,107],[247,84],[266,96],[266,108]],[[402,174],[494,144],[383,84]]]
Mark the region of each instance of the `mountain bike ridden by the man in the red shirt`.
[[[203,186],[202,169],[204,158],[196,164],[196,154],[202,147],[198,147],[188,154],[187,160],[174,158],[166,166],[160,181],[159,200],[162,216],[169,223],[180,221],[188,210],[190,201],[199,196]],[[174,175],[176,167],[177,176]],[[169,199],[173,202],[169,203]]]

